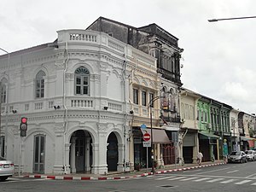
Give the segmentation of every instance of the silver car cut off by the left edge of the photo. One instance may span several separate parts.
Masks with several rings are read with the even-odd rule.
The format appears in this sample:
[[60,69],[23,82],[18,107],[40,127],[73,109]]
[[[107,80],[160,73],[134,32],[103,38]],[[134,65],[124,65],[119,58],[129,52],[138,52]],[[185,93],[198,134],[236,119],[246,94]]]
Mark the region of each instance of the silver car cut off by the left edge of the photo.
[[8,177],[12,177],[14,172],[14,163],[10,160],[4,159],[3,157],[0,157],[0,181],[4,181]]

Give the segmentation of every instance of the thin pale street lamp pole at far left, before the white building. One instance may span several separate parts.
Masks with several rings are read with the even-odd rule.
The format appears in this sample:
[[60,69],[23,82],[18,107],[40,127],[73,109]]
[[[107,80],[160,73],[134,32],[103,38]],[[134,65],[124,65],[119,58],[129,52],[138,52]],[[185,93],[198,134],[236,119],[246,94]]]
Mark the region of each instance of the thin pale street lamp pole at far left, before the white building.
[[10,66],[9,66],[9,52],[2,48],[0,48],[0,50],[3,50],[3,52],[8,54],[8,76],[7,76],[5,128],[4,128],[4,157],[7,158],[8,113],[9,113],[9,67]]

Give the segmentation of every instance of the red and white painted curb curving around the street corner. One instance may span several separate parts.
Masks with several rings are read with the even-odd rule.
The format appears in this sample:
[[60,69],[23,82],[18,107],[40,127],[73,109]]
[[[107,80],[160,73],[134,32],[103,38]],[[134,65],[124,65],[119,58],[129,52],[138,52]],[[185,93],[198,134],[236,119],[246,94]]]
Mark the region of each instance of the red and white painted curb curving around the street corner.
[[[190,169],[196,169],[196,168],[207,167],[207,166],[219,166],[224,164],[225,163],[215,163],[215,164],[209,164],[209,165],[203,165],[203,166],[191,166],[191,167],[184,167],[179,169],[171,169],[171,170],[154,172],[154,174],[161,174],[166,172],[180,172],[180,171],[186,171]],[[79,177],[79,176],[46,176],[46,175],[26,175],[24,177],[45,178],[45,179],[48,178],[48,179],[55,179],[55,180],[114,180],[114,179],[117,180],[117,179],[125,179],[125,178],[146,177],[148,175],[153,175],[153,172],[143,173],[135,176],[127,176],[127,177]]]

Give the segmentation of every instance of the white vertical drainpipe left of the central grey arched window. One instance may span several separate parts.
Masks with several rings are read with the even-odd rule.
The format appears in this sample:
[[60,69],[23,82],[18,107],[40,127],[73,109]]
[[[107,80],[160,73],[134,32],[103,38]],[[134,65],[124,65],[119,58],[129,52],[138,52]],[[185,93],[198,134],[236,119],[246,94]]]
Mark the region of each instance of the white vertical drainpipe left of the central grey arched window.
[[66,106],[66,73],[67,73],[67,62],[69,60],[69,57],[68,57],[68,48],[67,48],[67,42],[66,42],[66,45],[65,45],[65,50],[64,50],[64,55],[66,55],[66,59],[64,61],[64,70],[63,70],[63,107],[64,107],[64,117],[63,117],[63,120],[64,120],[64,123],[63,123],[63,127],[64,127],[64,133],[63,133],[63,171],[64,171],[64,174],[67,174],[67,165],[66,165],[66,146],[65,146],[65,141],[66,141],[66,134],[67,134],[67,106]]

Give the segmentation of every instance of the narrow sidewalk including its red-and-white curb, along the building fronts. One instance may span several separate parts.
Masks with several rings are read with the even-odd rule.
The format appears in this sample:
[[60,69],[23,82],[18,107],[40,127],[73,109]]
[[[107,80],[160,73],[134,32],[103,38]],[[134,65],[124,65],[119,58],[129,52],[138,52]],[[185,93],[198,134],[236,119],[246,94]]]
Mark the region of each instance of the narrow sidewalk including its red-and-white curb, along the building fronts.
[[[154,174],[161,174],[165,172],[179,172],[189,169],[196,169],[205,166],[220,166],[224,165],[223,160],[215,160],[215,162],[202,162],[201,166],[197,164],[185,164],[184,166],[170,165],[165,166],[162,169],[155,169]],[[107,175],[95,175],[95,174],[85,174],[85,173],[71,173],[67,175],[56,175],[56,174],[26,174],[23,173],[20,177],[32,177],[32,178],[49,178],[55,180],[113,180],[113,179],[125,179],[133,177],[146,177],[148,175],[153,175],[151,168],[142,169],[141,171],[132,172],[108,172]],[[14,177],[19,177],[15,175]]]

